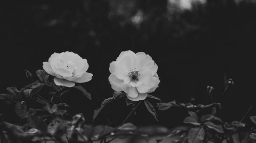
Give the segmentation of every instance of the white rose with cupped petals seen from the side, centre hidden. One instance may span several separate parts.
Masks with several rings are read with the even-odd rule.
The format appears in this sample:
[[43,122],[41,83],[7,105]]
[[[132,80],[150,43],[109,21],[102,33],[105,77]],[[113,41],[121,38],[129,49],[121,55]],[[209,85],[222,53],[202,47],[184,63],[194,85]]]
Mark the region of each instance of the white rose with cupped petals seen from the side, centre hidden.
[[89,68],[86,59],[82,59],[73,52],[53,53],[48,62],[42,63],[42,68],[52,76],[55,76],[56,85],[73,87],[75,82],[90,81],[93,74],[86,72]]

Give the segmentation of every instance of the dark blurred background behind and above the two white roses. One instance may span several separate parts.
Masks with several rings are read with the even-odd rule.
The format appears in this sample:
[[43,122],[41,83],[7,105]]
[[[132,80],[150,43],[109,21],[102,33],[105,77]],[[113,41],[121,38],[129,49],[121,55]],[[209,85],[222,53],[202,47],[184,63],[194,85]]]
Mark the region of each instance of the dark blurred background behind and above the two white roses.
[[[256,4],[250,1],[208,0],[191,9],[166,0],[0,1],[0,7],[0,93],[28,84],[22,70],[35,75],[53,52],[73,51],[88,60],[93,73],[81,84],[92,102],[73,90],[64,100],[72,113],[83,112],[90,122],[93,110],[113,93],[109,64],[121,51],[133,50],[150,54],[158,65],[160,84],[152,95],[163,102],[193,97],[208,104],[211,85],[225,121],[240,120],[250,102],[255,105]],[[222,98],[228,78],[235,84]],[[95,124],[118,125],[130,110],[124,99],[113,102]],[[16,121],[12,106],[0,103],[0,111],[5,120]],[[158,113],[156,123],[141,105],[128,121],[174,126],[187,116],[180,109]],[[255,110],[249,114],[256,115]]]

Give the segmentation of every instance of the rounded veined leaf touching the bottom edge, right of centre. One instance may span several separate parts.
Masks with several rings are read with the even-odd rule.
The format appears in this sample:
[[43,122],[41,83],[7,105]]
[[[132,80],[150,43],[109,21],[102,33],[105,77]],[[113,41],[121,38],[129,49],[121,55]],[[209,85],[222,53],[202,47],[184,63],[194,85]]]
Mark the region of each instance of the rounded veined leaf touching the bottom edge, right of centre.
[[201,127],[191,128],[188,131],[188,142],[189,143],[201,143],[204,139],[205,131]]

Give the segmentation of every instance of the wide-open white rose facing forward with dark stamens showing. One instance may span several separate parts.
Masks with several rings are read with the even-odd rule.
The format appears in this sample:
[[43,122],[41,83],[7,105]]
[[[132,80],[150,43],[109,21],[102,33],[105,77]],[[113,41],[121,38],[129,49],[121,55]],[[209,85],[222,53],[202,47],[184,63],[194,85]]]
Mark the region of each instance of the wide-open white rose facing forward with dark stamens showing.
[[144,52],[123,51],[110,63],[109,81],[115,91],[124,91],[132,101],[144,100],[154,92],[160,82],[158,66]]

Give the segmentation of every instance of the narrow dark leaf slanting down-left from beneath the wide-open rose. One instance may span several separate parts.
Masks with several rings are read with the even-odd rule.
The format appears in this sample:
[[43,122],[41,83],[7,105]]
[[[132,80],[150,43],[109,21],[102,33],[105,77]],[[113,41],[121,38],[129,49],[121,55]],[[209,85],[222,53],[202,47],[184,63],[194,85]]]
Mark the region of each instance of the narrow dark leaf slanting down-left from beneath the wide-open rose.
[[106,104],[108,104],[108,103],[110,103],[110,102],[112,102],[112,101],[114,101],[114,100],[116,100],[116,99],[122,98],[122,97],[125,97],[125,94],[123,94],[123,93],[121,93],[121,92],[114,92],[112,97],[110,97],[110,98],[108,98],[108,99],[105,99],[105,100],[101,103],[101,106],[100,106],[98,109],[94,110],[93,120],[98,116],[99,112],[102,110],[102,108],[103,108]]

